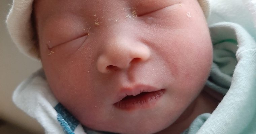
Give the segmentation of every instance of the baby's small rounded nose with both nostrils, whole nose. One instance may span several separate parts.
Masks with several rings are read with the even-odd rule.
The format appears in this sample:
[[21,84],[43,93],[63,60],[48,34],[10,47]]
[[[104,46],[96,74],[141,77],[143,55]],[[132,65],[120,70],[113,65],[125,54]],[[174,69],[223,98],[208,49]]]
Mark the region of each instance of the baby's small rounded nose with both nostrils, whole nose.
[[151,55],[145,44],[129,40],[113,40],[105,44],[103,49],[97,60],[101,73],[128,69],[131,64],[147,61]]

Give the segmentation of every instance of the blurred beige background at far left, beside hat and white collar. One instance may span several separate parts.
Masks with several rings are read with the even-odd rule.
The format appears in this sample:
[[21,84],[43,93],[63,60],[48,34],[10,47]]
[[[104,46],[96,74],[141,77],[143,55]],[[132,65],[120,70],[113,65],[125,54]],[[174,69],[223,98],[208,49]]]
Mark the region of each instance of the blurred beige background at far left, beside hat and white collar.
[[43,134],[34,119],[12,103],[14,89],[41,67],[19,52],[6,29],[5,19],[12,0],[0,0],[0,134]]

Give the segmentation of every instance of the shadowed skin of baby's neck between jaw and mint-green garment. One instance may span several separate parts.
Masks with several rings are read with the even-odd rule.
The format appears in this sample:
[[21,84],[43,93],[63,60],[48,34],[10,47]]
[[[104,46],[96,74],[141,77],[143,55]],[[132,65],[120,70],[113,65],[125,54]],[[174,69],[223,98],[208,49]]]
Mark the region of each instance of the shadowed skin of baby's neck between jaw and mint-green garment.
[[[207,89],[207,92],[205,91]],[[210,95],[214,94],[215,97]],[[194,119],[203,113],[212,113],[220,100],[216,99],[216,96],[219,98],[223,95],[217,93],[216,91],[210,89],[209,87],[204,87],[202,92],[198,95],[198,97],[192,102],[192,104],[186,109],[186,111],[175,121],[171,126],[166,129],[156,133],[156,134],[180,134],[187,128],[189,128],[190,124],[194,121]]]

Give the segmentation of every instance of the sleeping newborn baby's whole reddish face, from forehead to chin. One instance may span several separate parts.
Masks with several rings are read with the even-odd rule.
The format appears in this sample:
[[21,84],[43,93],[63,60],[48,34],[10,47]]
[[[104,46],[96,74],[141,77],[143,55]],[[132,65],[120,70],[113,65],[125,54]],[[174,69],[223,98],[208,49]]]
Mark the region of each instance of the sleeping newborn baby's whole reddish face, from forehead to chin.
[[89,128],[163,130],[209,75],[211,38],[196,0],[37,0],[34,8],[47,81]]

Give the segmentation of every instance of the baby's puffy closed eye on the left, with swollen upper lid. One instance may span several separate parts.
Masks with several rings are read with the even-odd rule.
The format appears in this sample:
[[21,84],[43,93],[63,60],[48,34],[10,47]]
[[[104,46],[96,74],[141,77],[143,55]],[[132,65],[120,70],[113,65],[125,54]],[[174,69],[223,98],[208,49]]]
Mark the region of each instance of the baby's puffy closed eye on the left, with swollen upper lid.
[[88,37],[88,28],[78,19],[79,17],[62,16],[47,20],[43,40],[48,49],[66,44],[82,45]]

